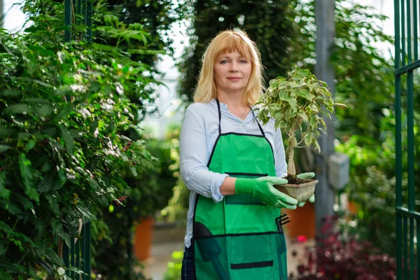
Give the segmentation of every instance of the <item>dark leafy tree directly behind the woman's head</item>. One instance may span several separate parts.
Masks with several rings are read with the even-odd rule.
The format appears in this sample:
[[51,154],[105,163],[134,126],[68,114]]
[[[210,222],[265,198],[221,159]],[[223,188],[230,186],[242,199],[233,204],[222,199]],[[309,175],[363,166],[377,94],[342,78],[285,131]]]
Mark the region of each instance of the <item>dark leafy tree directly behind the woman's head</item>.
[[192,100],[205,48],[220,31],[239,27],[257,43],[268,79],[283,76],[290,69],[288,48],[295,34],[289,20],[293,10],[289,1],[191,1],[193,24],[189,31],[190,47],[179,64],[182,74],[179,93]]

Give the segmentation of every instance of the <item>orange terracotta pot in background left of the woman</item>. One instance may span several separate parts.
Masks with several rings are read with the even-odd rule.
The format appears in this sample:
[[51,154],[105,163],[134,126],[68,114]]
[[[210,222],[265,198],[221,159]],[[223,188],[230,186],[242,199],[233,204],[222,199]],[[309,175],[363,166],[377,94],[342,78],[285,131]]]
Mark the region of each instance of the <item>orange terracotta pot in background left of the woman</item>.
[[146,260],[151,257],[153,225],[152,217],[145,218],[136,225],[134,253],[139,260]]

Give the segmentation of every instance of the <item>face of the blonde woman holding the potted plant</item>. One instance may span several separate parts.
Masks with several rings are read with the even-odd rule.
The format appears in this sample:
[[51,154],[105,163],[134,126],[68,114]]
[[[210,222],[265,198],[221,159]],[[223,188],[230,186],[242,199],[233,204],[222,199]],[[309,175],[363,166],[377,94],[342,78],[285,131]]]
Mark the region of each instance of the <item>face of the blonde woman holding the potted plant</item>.
[[221,53],[214,63],[214,79],[218,92],[244,91],[251,76],[252,63],[235,52]]

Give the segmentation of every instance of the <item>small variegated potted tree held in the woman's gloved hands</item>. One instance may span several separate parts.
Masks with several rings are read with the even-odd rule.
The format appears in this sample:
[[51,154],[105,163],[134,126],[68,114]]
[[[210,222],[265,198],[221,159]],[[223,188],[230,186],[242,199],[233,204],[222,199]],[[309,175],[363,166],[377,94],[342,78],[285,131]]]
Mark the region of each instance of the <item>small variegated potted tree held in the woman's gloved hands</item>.
[[[270,80],[265,94],[260,96],[257,104],[258,119],[263,124],[274,119],[274,127],[286,132],[286,157],[288,160],[288,184],[275,186],[299,202],[306,201],[314,194],[318,180],[304,180],[296,177],[293,160],[295,148],[313,145],[321,151],[318,137],[326,133],[323,117],[334,112],[337,104],[328,91],[327,84],[317,80],[307,69],[295,69],[288,73],[288,78],[278,77]],[[300,139],[297,139],[299,133]]]

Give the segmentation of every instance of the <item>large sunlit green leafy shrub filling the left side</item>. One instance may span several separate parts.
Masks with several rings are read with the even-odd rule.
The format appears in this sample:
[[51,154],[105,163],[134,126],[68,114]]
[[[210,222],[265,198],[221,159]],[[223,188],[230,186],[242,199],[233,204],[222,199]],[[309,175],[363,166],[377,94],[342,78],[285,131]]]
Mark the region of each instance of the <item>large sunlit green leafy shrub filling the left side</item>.
[[[64,43],[63,5],[42,4],[25,6],[29,33],[0,33],[0,279],[61,274],[58,252],[78,237],[79,219],[120,201],[128,174],[155,170],[146,141],[131,135],[153,101],[150,67],[118,48]],[[40,16],[45,7],[50,13]],[[139,25],[98,36],[104,30],[148,40]]]

